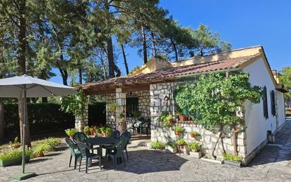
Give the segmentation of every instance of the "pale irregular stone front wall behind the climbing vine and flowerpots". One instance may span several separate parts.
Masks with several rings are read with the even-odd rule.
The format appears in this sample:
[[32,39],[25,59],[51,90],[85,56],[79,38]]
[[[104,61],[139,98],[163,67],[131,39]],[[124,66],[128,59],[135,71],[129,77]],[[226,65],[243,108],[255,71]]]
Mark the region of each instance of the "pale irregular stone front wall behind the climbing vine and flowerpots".
[[[216,140],[218,139],[218,135],[205,130],[200,125],[196,125],[193,123],[177,123],[177,125],[182,125],[184,127],[184,134],[177,137],[174,135],[174,131],[172,127],[164,127],[162,123],[158,122],[158,117],[162,113],[162,111],[169,111],[174,115],[175,103],[174,103],[174,86],[177,83],[166,83],[166,84],[152,84],[150,85],[150,118],[151,118],[151,140],[152,141],[162,141],[167,142],[168,140],[179,140],[184,138],[186,142],[195,141],[194,138],[191,137],[190,132],[198,132],[201,137],[199,142],[203,145],[205,149],[203,152],[211,157],[212,149],[215,145]],[[165,99],[165,97],[170,98],[169,100]],[[246,148],[245,148],[245,134],[242,133],[238,135],[238,152],[239,155],[245,157]],[[233,139],[225,137],[224,146],[226,152],[233,153]],[[220,155],[223,152],[221,141],[218,142],[218,146],[215,150],[215,155]]]

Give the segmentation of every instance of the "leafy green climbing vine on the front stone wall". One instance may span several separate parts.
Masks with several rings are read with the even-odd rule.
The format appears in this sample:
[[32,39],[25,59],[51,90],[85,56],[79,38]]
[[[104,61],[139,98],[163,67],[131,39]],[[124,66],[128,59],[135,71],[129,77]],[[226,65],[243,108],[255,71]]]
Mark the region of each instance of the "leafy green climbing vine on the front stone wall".
[[[187,109],[190,115],[198,112],[196,122],[219,134],[212,152],[214,158],[216,145],[223,136],[237,135],[244,129],[244,102],[249,100],[251,103],[260,103],[261,96],[261,88],[251,86],[247,73],[231,74],[228,77],[225,74],[207,74],[200,76],[197,84],[181,84],[175,91],[180,108]],[[236,147],[234,154],[237,154]]]

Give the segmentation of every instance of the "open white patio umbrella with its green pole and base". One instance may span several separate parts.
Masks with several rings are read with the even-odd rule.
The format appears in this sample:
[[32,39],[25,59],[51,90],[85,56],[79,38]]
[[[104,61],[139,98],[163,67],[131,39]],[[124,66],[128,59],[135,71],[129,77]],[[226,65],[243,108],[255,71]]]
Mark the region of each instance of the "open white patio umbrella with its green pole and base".
[[12,176],[18,180],[35,176],[34,173],[25,173],[25,106],[26,98],[48,97],[48,96],[67,96],[76,93],[71,86],[56,84],[43,79],[36,79],[31,76],[14,76],[7,79],[0,79],[0,97],[5,98],[24,98],[23,103],[23,171],[22,174]]

